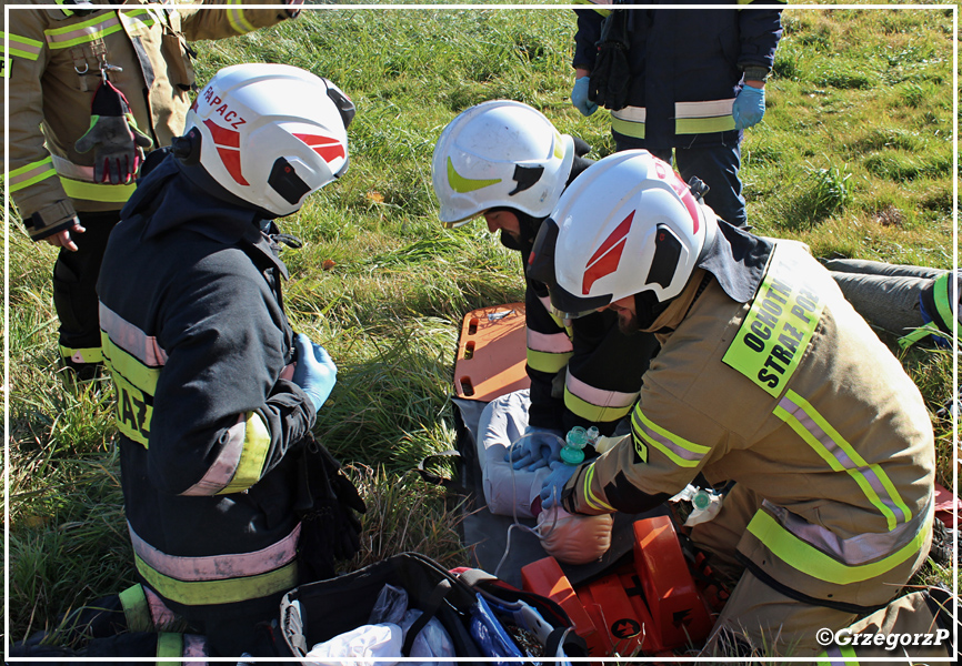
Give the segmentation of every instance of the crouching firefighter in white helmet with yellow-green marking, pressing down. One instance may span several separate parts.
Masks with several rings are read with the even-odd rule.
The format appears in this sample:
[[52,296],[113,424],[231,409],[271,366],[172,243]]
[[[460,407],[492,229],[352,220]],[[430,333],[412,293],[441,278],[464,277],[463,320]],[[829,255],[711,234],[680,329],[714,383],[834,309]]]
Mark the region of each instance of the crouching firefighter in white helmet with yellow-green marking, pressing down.
[[[542,220],[564,188],[592,161],[590,147],[561,134],[541,112],[521,102],[494,100],[463,111],[434,148],[432,176],[439,216],[448,228],[483,216],[501,243],[531,253]],[[543,284],[525,276],[528,432],[511,451],[515,468],[531,471],[559,460],[560,442],[574,425],[598,425],[610,435],[638,397],[654,340],[619,333],[613,313],[577,322],[550,307]],[[618,369],[623,372],[612,372]]]

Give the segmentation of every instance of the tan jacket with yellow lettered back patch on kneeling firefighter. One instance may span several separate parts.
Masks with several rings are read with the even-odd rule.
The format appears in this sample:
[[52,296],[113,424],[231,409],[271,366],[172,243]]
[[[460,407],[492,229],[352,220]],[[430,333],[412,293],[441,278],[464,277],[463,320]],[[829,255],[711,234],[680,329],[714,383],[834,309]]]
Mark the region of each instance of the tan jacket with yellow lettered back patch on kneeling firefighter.
[[828,605],[885,604],[931,532],[919,390],[798,244],[776,244],[750,303],[712,281],[692,304],[700,282],[654,323],[674,331],[660,335],[632,436],[579,470],[570,506],[630,511],[632,493],[671,496],[698,473],[735,481],[765,498],[738,544],[749,568]]

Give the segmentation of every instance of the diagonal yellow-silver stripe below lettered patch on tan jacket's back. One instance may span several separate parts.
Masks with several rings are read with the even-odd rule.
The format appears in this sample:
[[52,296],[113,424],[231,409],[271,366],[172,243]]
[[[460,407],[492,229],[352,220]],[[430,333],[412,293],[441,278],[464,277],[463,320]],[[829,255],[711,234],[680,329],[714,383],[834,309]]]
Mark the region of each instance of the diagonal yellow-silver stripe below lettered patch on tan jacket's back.
[[[798,412],[792,413],[784,408],[783,405],[794,403],[808,420],[811,420],[811,423],[821,432],[812,432],[812,425],[809,423],[803,423],[801,418],[798,416]],[[830,424],[824,416],[822,416],[815,407],[813,407],[805,398],[795,393],[792,390],[785,394],[785,398],[782,400],[781,403],[774,410],[775,416],[784,421],[789,424],[789,426],[798,433],[805,443],[812,447],[812,450],[818,453],[829,466],[832,467],[835,472],[845,471],[849,476],[851,476],[855,483],[862,488],[862,492],[865,493],[865,496],[869,498],[875,508],[878,508],[883,516],[885,516],[885,522],[889,526],[889,529],[892,531],[895,528],[895,525],[900,522],[894,512],[881,500],[876,488],[873,487],[871,481],[866,477],[865,473],[862,470],[871,471],[872,475],[879,480],[879,483],[882,485],[884,491],[888,493],[889,497],[892,501],[899,511],[902,513],[902,523],[909,522],[912,517],[912,512],[902,501],[899,491],[895,488],[895,484],[892,483],[892,480],[889,478],[889,475],[885,474],[884,470],[880,467],[876,463],[869,464],[865,458],[863,458],[858,451],[855,451],[849,442],[834,428],[832,424]],[[841,452],[848,456],[848,458],[856,465],[856,467],[849,467],[843,464],[841,460],[839,460],[839,455],[830,451],[826,446],[826,442],[823,438],[820,438],[816,435],[824,434],[829,437],[829,441],[834,444]]]

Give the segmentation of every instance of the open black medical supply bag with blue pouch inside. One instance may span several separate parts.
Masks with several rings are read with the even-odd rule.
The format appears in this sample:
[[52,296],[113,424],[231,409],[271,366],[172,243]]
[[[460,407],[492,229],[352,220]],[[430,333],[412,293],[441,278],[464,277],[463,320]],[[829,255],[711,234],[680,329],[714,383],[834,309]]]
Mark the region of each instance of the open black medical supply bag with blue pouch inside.
[[554,602],[514,589],[480,569],[458,575],[418,553],[394,555],[289,592],[280,608],[288,649],[307,662],[314,646],[367,625],[385,585],[405,591],[409,607],[420,610],[405,630],[400,656],[412,656],[415,638],[432,618],[447,630],[458,657],[587,655],[568,615]]

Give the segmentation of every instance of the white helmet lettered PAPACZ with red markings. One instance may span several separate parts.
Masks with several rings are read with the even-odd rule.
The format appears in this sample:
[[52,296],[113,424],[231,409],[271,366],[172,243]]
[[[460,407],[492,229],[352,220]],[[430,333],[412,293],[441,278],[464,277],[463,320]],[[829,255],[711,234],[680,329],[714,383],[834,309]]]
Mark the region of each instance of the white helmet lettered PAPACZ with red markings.
[[197,95],[174,154],[244,202],[290,215],[347,171],[353,115],[327,79],[287,64],[237,64]]

